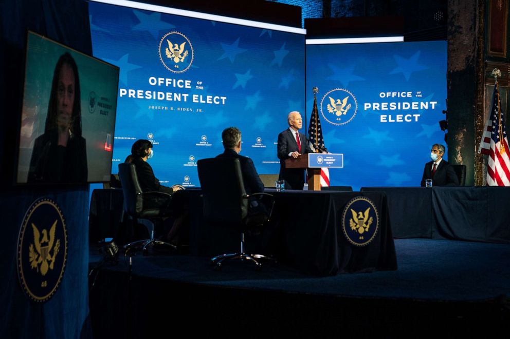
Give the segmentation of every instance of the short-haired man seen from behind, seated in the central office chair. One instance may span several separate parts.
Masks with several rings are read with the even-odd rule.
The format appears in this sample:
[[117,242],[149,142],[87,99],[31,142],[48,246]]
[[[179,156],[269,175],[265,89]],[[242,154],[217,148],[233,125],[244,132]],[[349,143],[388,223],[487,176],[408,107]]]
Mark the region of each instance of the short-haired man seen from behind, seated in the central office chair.
[[264,192],[264,184],[262,184],[260,180],[259,174],[253,165],[253,161],[249,157],[239,154],[239,152],[241,152],[241,131],[235,127],[224,129],[222,132],[222,141],[225,151],[216,157],[239,159],[246,194],[250,195]]

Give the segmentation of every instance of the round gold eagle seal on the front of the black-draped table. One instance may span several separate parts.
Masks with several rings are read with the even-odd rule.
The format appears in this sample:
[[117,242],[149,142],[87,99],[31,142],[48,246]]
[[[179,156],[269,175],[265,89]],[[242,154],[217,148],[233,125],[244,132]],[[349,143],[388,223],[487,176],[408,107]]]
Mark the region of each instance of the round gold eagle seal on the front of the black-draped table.
[[379,213],[375,204],[365,196],[357,196],[345,205],[342,213],[342,232],[356,246],[374,240],[379,228]]

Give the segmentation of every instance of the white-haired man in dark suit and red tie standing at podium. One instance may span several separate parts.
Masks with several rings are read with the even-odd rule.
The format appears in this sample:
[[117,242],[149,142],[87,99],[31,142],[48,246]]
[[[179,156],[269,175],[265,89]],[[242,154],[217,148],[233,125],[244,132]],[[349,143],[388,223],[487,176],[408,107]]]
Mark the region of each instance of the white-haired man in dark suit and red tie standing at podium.
[[297,111],[288,113],[289,128],[278,134],[278,158],[280,159],[279,180],[285,180],[285,188],[302,190],[304,184],[303,168],[285,168],[285,159],[297,158],[301,154],[312,153],[308,141],[299,130],[303,126],[301,114]]

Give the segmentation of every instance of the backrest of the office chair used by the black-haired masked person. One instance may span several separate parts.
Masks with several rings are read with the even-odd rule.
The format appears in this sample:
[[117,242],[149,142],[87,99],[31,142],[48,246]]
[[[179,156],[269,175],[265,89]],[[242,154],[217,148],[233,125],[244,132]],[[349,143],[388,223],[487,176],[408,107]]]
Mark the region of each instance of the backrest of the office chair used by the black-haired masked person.
[[135,164],[119,164],[119,178],[124,194],[124,211],[136,216],[143,210],[143,192],[138,183]]

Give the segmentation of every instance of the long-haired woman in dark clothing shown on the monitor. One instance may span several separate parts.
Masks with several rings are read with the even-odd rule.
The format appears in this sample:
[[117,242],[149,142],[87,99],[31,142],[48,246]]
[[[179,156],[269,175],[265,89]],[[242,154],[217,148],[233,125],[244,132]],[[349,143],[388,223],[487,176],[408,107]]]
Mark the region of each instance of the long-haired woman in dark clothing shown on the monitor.
[[28,182],[87,182],[80,79],[76,62],[69,53],[60,56],[53,72],[44,134],[35,139]]

